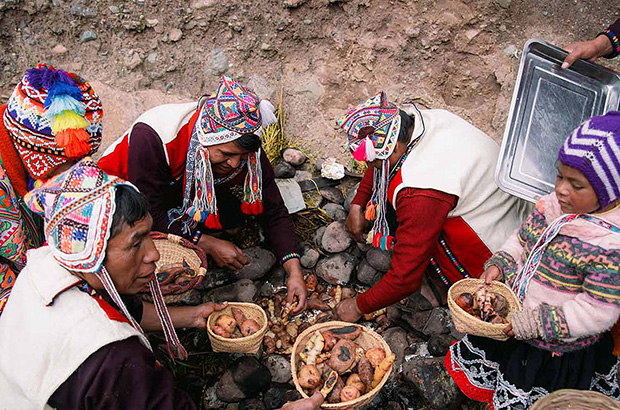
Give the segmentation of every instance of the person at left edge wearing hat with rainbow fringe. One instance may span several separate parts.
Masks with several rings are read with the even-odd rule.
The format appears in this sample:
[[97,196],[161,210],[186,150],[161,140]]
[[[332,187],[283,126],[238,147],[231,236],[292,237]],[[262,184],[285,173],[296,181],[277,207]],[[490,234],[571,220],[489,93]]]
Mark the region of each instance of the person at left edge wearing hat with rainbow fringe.
[[27,70],[0,106],[0,313],[26,251],[43,243],[42,221],[23,196],[97,151],[102,116],[88,82],[45,65]]

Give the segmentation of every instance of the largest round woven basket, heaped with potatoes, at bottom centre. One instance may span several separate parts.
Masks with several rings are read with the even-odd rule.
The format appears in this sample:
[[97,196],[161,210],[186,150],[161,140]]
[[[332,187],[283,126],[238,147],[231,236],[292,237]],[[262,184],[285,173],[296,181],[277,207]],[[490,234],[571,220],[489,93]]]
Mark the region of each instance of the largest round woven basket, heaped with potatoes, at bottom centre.
[[[335,328],[339,328],[343,326],[351,326],[351,325],[353,324],[348,323],[348,322],[338,322],[338,321],[318,323],[314,326],[310,326],[308,329],[304,330],[297,337],[297,340],[295,341],[295,344],[293,345],[293,352],[291,354],[291,373],[293,373],[293,382],[295,383],[295,387],[297,388],[297,391],[299,391],[299,393],[301,393],[301,395],[304,398],[307,398],[308,395],[304,392],[304,389],[299,385],[299,380],[297,380],[297,372],[298,372],[297,368],[299,367],[299,364],[302,362],[301,359],[299,358],[299,353],[303,352],[306,342],[308,341],[308,339],[310,339],[312,334],[317,330],[320,332],[323,332],[325,330],[331,330],[331,329],[335,329]],[[357,339],[354,340],[354,342],[360,345],[360,347],[362,347],[364,350],[368,350],[372,347],[381,347],[385,350],[386,356],[389,356],[392,354],[392,351],[390,350],[390,346],[388,346],[385,340],[383,340],[383,338],[377,332],[372,331],[364,326],[360,326],[360,325],[354,325],[354,326],[357,326],[362,329],[362,333],[357,337]],[[390,377],[390,373],[392,373],[392,369],[390,369],[388,372],[385,373],[385,376],[383,376],[381,383],[379,383],[377,387],[375,387],[368,393],[364,394],[363,396],[360,396],[355,400],[347,401],[345,403],[334,403],[334,404],[323,403],[321,405],[321,408],[322,409],[347,409],[347,408],[358,408],[358,407],[365,406],[366,404],[370,403],[372,399],[374,399],[375,396],[379,393],[381,388],[383,388],[383,385],[385,384],[385,382],[387,382],[388,377]]]

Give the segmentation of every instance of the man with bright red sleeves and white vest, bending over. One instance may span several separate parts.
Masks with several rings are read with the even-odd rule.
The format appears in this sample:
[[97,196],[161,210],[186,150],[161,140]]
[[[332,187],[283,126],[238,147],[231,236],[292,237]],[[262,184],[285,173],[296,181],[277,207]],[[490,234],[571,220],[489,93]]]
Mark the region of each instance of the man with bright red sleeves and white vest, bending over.
[[336,307],[341,319],[357,321],[407,298],[425,276],[434,292],[424,287],[410,301],[426,308],[443,303],[450,284],[482,274],[484,262],[527,215],[524,201],[495,184],[497,144],[454,114],[412,103],[399,108],[380,92],[338,125],[353,157],[370,165],[346,228],[358,242],[393,248],[383,278]]

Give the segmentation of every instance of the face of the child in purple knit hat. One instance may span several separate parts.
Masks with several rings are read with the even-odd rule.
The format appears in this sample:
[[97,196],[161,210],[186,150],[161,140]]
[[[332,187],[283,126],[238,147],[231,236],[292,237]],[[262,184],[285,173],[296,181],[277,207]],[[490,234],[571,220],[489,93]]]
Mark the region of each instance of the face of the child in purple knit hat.
[[598,198],[586,177],[575,168],[558,163],[555,194],[562,212],[567,214],[591,213],[599,209]]

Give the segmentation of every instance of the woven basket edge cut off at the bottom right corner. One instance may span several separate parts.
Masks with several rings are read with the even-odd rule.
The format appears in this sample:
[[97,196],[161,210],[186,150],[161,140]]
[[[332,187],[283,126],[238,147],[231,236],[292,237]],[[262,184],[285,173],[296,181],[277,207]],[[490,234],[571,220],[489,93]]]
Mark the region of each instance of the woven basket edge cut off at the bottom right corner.
[[603,393],[563,389],[538,400],[530,410],[618,410],[620,403]]

